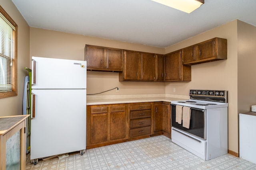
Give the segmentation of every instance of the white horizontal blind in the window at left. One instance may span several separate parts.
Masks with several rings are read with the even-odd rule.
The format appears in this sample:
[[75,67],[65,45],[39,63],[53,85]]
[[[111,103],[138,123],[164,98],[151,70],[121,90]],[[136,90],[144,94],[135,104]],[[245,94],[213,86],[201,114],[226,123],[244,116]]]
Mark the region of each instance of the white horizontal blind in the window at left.
[[13,86],[15,27],[0,13],[0,92],[11,92]]

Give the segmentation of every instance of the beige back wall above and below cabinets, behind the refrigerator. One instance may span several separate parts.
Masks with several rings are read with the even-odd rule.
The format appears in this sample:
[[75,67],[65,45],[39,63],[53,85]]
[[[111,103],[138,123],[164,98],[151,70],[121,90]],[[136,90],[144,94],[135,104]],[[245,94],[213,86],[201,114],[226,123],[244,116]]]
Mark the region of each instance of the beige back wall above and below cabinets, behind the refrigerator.
[[[164,49],[158,47],[30,28],[30,56],[84,60],[85,44],[164,53]],[[116,90],[112,90],[101,95],[165,93],[164,82],[119,82],[118,73],[116,72],[87,71],[87,94],[102,92],[114,87],[119,88],[118,93]]]

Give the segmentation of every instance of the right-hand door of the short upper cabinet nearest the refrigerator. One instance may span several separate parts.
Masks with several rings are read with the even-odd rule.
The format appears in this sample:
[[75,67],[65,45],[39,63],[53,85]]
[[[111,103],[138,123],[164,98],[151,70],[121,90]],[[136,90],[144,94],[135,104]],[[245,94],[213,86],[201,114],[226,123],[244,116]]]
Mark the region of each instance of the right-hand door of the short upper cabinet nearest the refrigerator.
[[107,66],[106,68],[115,71],[122,71],[122,50],[106,49],[107,51]]

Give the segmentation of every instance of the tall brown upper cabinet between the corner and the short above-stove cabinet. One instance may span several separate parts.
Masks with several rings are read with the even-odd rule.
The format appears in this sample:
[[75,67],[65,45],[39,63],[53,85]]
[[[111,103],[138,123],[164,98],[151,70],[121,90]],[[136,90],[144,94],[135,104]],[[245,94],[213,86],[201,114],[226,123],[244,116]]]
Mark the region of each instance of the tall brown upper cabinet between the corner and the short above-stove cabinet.
[[181,50],[165,55],[165,81],[191,81],[191,66],[182,65]]

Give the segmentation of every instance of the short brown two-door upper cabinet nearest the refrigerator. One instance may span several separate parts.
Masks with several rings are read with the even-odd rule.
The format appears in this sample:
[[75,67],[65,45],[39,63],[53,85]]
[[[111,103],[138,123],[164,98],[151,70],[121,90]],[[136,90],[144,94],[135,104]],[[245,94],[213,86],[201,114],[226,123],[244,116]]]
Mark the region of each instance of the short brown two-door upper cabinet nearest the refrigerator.
[[87,70],[122,71],[122,49],[85,45]]

